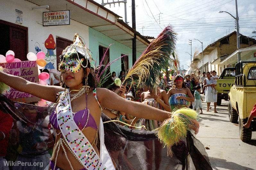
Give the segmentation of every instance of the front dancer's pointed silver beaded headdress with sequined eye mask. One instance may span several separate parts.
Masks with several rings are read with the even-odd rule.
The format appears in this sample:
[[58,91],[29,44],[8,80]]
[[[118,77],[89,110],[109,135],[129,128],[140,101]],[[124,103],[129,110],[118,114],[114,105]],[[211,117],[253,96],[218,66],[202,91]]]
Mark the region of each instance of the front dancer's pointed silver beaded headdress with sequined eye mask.
[[[88,66],[88,60],[92,60],[90,51],[85,46],[78,33],[75,34],[73,42],[73,44],[67,46],[66,49],[62,51],[61,63],[59,66],[61,72],[71,71],[76,73],[81,67],[86,68]],[[79,57],[78,53],[87,59],[86,65],[82,64],[84,58]]]

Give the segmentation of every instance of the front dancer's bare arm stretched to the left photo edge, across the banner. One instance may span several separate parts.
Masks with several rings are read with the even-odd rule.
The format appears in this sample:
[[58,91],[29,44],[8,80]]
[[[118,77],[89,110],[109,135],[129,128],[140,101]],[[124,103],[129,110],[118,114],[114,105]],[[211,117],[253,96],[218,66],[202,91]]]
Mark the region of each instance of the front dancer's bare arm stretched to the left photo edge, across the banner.
[[0,72],[0,81],[18,91],[29,93],[50,102],[55,102],[56,93],[64,90],[59,86],[44,86],[3,72]]

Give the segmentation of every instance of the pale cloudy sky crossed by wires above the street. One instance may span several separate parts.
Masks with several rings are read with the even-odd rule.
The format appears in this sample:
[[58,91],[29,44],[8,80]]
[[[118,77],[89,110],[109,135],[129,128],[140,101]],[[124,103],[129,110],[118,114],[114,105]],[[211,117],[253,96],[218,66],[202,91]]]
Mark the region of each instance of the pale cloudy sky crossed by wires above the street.
[[[95,0],[99,4],[102,0]],[[118,0],[114,0],[117,2]],[[253,36],[256,31],[256,0],[237,0],[240,34]],[[108,0],[113,2],[113,0]],[[107,3],[107,0],[104,0]],[[127,0],[127,21],[132,27],[132,0]],[[172,25],[178,34],[176,51],[181,65],[187,69],[190,64],[192,40],[192,56],[195,50],[201,52],[203,48],[219,38],[236,30],[235,19],[226,11],[236,17],[235,0],[135,0],[136,30],[141,35],[157,37],[168,25]],[[105,5],[106,8],[123,17],[124,3]],[[186,53],[188,52],[188,53]],[[182,67],[182,66],[181,66]]]

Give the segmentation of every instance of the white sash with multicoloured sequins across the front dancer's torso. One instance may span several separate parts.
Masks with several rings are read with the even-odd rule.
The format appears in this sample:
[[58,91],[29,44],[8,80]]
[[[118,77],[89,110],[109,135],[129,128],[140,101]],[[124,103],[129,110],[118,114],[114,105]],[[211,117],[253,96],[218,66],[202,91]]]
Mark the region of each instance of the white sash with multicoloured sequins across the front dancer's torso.
[[69,89],[61,95],[57,105],[57,121],[63,138],[85,168],[88,170],[106,169],[91,143],[73,120]]

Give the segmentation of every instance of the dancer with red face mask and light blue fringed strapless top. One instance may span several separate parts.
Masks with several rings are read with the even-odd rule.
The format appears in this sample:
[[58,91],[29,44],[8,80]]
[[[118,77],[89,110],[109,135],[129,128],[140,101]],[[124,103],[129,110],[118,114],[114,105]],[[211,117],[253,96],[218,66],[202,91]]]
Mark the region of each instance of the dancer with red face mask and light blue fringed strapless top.
[[173,81],[173,88],[169,89],[167,93],[171,110],[189,107],[190,102],[194,101],[194,97],[190,89],[185,86],[184,78],[178,74]]

